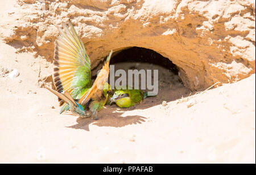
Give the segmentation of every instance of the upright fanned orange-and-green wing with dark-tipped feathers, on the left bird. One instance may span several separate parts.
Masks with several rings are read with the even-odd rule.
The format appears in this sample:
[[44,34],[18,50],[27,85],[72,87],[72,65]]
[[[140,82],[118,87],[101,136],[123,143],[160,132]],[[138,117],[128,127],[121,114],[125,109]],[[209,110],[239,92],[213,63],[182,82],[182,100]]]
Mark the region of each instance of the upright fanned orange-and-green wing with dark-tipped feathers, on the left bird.
[[[72,23],[59,28],[60,35],[55,41],[53,80],[57,92],[67,91],[73,99],[80,99],[90,87],[90,58],[84,44],[77,35]],[[59,99],[60,106],[65,101]]]

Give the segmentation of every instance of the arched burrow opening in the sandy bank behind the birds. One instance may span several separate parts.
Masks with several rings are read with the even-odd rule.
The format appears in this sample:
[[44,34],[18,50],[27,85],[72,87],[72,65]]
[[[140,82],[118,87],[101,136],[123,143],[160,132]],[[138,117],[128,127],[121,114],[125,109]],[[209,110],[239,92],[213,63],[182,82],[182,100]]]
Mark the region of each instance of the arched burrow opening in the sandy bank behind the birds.
[[[114,65],[114,72],[124,70],[126,72],[126,84],[128,84],[128,70],[151,70],[151,85],[154,84],[154,70],[158,70],[158,95],[143,100],[143,104],[160,104],[163,101],[174,101],[189,94],[189,89],[183,86],[179,78],[179,69],[170,61],[154,50],[132,47],[115,52],[110,60],[110,66]],[[110,70],[111,71],[111,70]],[[113,71],[113,70],[112,70]],[[120,75],[122,76],[122,75]],[[114,76],[114,82],[120,76]],[[146,83],[149,78],[146,77]],[[109,78],[110,82],[110,78]],[[139,89],[142,89],[141,75],[139,75]],[[133,77],[134,86],[134,77]],[[143,91],[152,91],[142,89]]]

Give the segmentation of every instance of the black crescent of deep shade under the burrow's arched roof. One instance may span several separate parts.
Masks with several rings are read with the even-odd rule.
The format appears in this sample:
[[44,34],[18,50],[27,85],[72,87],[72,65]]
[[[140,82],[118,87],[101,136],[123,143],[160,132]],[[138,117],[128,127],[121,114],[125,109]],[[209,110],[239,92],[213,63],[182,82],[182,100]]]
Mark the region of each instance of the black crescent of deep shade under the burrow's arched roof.
[[[111,58],[110,65],[120,62],[152,63],[155,65],[166,67],[166,69],[173,72],[175,75],[178,74],[176,65],[172,63],[170,59],[163,57],[161,54],[155,52],[154,50],[146,48],[133,47],[122,50]],[[129,67],[129,69],[133,68],[134,67]]]

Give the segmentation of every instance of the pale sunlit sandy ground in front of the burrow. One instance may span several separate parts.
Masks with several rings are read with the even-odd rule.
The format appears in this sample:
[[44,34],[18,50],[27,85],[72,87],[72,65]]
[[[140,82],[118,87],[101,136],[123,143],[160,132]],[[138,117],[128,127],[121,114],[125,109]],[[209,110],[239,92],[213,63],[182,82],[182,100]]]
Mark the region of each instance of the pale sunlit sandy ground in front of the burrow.
[[59,114],[38,83],[45,59],[1,41],[0,62],[0,163],[255,163],[255,74],[191,96],[161,75],[158,96],[105,106],[95,121]]

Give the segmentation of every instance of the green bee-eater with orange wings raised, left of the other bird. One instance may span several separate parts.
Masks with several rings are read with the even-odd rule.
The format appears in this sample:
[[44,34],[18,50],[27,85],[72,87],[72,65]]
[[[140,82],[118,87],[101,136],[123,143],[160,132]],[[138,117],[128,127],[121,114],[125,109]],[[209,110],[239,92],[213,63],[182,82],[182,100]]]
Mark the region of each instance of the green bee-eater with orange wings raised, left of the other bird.
[[77,35],[72,23],[63,24],[59,29],[60,36],[55,41],[53,82],[57,90],[51,92],[59,97],[60,113],[71,110],[81,117],[97,119],[100,110],[108,99],[109,62],[113,51],[111,50],[106,63],[92,84],[90,76],[90,58],[86,54],[84,44]]

